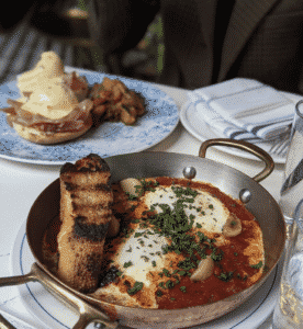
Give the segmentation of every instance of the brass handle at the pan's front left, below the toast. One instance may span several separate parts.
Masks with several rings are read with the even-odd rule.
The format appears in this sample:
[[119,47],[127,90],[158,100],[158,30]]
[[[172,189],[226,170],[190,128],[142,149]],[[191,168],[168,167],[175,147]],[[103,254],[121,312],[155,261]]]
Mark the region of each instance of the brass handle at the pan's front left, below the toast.
[[[7,285],[18,285],[31,281],[38,281],[50,294],[55,297],[58,297],[67,306],[77,308],[80,317],[77,324],[74,326],[74,329],[85,329],[91,322],[100,322],[106,326],[106,328],[115,329],[119,326],[119,322],[111,321],[110,318],[103,314],[101,310],[88,304],[86,300],[76,296],[72,292],[67,290],[64,285],[53,280],[47,273],[45,273],[37,263],[32,265],[31,272],[25,275],[11,276],[11,277],[0,277],[0,286]],[[2,317],[3,318],[3,317]],[[0,317],[3,324],[7,325],[8,329],[13,329],[11,325]],[[11,326],[11,327],[9,327]]]

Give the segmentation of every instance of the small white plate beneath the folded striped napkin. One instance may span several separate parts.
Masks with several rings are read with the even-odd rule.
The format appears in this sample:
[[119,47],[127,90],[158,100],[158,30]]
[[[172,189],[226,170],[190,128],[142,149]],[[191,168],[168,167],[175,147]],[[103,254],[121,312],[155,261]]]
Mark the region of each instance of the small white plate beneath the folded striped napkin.
[[[283,92],[283,94],[287,98],[289,98],[291,101],[293,101],[293,104],[295,104],[299,100],[302,99],[302,97],[298,94],[292,94],[288,92]],[[293,105],[293,112],[294,112],[294,105]],[[183,106],[181,107],[180,121],[184,126],[184,128],[201,141],[221,137],[201,118],[201,115],[198,113],[195,106],[191,105],[189,102],[183,104]],[[272,143],[255,143],[255,144],[260,148],[262,148],[265,151],[269,151],[272,146]],[[221,151],[234,156],[238,156],[242,158],[251,159],[251,160],[258,159],[255,156],[236,148],[231,148],[231,147],[216,147],[216,148],[220,149]],[[285,163],[285,157],[280,157],[276,155],[271,155],[271,157],[276,163]]]

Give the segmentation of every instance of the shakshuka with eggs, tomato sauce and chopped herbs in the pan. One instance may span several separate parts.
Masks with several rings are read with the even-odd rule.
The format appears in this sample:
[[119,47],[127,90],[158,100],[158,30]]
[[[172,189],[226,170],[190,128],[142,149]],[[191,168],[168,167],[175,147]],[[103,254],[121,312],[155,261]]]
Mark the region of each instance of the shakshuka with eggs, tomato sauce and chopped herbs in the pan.
[[[197,180],[168,177],[112,184],[120,228],[106,237],[102,271],[90,296],[130,307],[176,309],[213,303],[262,275],[262,231],[240,201]],[[47,265],[57,273],[60,230],[44,237]]]

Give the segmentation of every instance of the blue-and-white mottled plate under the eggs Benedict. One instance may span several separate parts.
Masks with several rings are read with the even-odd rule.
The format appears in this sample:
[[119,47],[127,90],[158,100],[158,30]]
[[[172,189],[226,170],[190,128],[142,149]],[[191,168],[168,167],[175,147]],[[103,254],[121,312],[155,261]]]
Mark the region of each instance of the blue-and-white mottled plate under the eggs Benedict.
[[[149,82],[116,77],[83,69],[66,68],[87,77],[89,84],[102,82],[106,76],[119,78],[130,89],[139,92],[146,100],[146,113],[133,126],[119,122],[106,122],[91,129],[80,138],[63,144],[45,146],[21,138],[7,124],[7,114],[0,112],[0,157],[36,164],[64,164],[76,161],[90,152],[102,158],[145,150],[165,139],[179,122],[175,101]],[[20,97],[16,81],[0,86],[0,107],[7,107],[7,100]]]

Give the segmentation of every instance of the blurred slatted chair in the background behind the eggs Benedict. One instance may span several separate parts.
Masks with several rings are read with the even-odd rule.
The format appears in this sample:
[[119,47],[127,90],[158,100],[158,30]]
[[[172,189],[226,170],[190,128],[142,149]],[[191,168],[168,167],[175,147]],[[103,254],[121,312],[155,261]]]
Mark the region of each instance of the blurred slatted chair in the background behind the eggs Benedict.
[[64,3],[32,10],[13,31],[0,34],[0,83],[31,69],[47,50],[56,52],[65,66],[106,71],[102,52],[89,36],[86,10],[78,1]]

